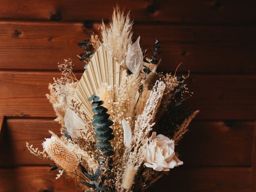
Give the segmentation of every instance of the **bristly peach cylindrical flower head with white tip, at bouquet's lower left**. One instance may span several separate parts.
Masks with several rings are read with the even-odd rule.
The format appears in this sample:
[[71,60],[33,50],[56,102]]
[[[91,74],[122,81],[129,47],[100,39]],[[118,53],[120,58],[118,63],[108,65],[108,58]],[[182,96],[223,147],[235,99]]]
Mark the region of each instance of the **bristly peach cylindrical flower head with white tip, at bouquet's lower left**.
[[61,140],[53,135],[51,138],[46,138],[45,140],[42,146],[58,166],[68,172],[72,172],[76,169],[79,163],[78,158],[68,150]]

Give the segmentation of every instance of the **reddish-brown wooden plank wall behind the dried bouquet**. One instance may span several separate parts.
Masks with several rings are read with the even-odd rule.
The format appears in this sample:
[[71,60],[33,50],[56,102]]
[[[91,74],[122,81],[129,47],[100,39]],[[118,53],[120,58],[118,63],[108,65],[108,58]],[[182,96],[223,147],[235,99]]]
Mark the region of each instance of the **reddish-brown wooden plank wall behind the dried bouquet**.
[[[26,150],[58,132],[45,94],[57,63],[71,58],[82,74],[77,43],[97,32],[116,2],[131,10],[134,38],[162,46],[159,69],[190,69],[200,109],[177,148],[184,166],[148,191],[256,191],[256,1],[254,0],[0,0],[0,192],[72,192]],[[169,188],[170,187],[170,188]]]

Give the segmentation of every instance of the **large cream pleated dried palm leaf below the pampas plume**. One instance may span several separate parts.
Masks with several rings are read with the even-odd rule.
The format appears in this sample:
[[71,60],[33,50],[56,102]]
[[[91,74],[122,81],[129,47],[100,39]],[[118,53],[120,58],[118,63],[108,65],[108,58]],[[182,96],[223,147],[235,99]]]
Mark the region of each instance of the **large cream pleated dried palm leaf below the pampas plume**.
[[92,94],[97,94],[102,83],[107,83],[109,86],[116,88],[125,74],[126,71],[100,46],[91,58],[74,94],[74,99],[77,102],[82,102],[81,110],[85,112],[88,119],[91,119],[94,115],[88,98]]

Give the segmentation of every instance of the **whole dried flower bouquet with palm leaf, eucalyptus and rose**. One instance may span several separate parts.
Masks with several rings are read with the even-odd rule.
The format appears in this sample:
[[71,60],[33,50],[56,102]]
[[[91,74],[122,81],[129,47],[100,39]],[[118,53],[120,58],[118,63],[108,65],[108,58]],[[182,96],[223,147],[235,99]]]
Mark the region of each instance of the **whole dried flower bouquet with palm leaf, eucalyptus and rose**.
[[156,71],[160,45],[142,51],[140,37],[132,43],[129,13],[114,9],[101,38],[78,43],[85,49],[80,80],[71,60],[59,68],[62,78],[49,85],[50,100],[61,136],[42,143],[32,154],[68,174],[84,191],[144,191],[164,172],[183,164],[175,146],[198,111],[178,106],[191,96],[183,74]]

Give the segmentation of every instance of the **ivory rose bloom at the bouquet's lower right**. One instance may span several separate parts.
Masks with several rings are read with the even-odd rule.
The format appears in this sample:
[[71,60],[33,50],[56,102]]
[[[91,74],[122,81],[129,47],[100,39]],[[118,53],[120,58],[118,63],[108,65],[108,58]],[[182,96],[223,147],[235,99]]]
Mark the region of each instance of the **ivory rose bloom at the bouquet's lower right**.
[[153,132],[149,138],[144,165],[156,171],[170,171],[175,166],[183,165],[183,162],[175,156],[174,140],[162,134],[156,136],[156,132]]

